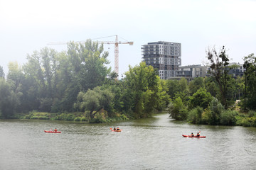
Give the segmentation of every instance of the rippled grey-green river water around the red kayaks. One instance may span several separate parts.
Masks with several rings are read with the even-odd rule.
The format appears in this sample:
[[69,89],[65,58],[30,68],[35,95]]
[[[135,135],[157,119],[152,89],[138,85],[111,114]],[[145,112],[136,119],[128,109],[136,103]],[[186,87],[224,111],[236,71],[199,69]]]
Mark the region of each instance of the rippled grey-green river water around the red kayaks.
[[[50,128],[61,133],[43,132]],[[181,136],[198,131],[206,138]],[[0,169],[256,169],[256,128],[191,125],[169,114],[107,124],[0,120]]]

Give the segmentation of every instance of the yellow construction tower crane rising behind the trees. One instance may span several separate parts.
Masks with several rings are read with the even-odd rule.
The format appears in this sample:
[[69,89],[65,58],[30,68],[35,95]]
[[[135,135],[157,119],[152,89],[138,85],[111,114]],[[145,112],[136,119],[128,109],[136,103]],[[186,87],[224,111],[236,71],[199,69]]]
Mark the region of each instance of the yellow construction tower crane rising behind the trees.
[[[127,41],[126,42],[121,42],[118,40],[118,35],[112,35],[112,36],[108,36],[108,37],[103,37],[103,38],[109,38],[109,37],[113,37],[115,36],[115,41],[97,41],[99,44],[114,44],[114,72],[117,73],[117,75],[119,75],[119,44],[129,44],[129,45],[133,45],[133,41]],[[100,38],[95,38],[92,40],[97,40]],[[123,38],[124,39],[124,38]],[[76,41],[78,43],[85,43],[85,41]],[[48,43],[48,45],[66,45],[68,42],[50,42]]]

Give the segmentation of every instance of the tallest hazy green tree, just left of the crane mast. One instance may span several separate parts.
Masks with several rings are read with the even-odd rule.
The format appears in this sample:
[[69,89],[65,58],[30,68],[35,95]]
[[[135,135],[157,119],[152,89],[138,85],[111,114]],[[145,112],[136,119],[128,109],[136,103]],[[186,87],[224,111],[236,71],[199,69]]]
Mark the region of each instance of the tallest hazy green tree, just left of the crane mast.
[[[103,45],[87,40],[84,44],[68,43],[67,55],[60,57],[60,75],[62,79],[58,86],[62,97],[56,105],[60,110],[72,111],[80,91],[86,92],[96,86],[101,86],[111,68],[107,68],[108,53],[103,52]],[[68,82],[68,83],[67,83]]]

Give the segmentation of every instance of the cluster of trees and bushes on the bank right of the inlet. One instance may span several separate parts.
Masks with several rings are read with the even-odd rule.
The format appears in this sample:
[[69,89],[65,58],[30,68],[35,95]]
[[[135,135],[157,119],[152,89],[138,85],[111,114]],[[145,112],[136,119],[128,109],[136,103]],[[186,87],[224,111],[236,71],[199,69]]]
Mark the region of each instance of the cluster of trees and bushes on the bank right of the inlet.
[[[220,52],[214,48],[208,50],[207,57],[210,77],[198,77],[189,84],[185,79],[167,81],[171,88],[170,116],[197,124],[255,126],[256,57],[253,54],[244,57],[246,71],[243,77],[229,74],[230,69],[238,66],[229,65],[225,47]],[[241,102],[237,106],[235,101],[238,99]],[[250,111],[250,114],[241,115],[238,108],[244,113]]]

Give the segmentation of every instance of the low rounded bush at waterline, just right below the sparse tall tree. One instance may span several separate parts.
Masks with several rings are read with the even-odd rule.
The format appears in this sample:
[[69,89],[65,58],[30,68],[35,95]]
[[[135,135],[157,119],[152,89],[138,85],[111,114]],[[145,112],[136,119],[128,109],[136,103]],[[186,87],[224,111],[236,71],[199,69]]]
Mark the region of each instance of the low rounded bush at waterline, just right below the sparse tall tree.
[[220,125],[235,125],[237,119],[235,116],[238,115],[237,111],[226,110],[220,113]]

